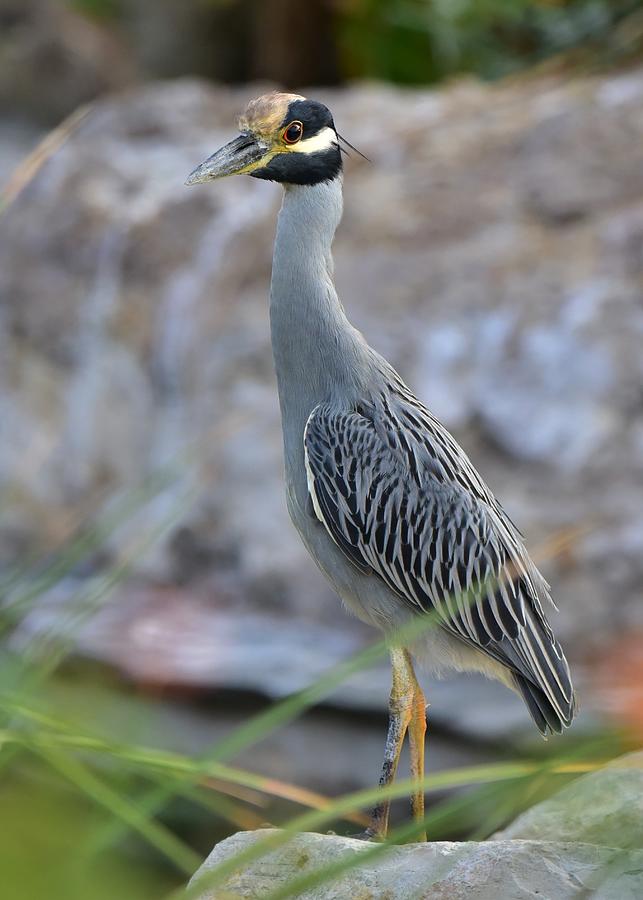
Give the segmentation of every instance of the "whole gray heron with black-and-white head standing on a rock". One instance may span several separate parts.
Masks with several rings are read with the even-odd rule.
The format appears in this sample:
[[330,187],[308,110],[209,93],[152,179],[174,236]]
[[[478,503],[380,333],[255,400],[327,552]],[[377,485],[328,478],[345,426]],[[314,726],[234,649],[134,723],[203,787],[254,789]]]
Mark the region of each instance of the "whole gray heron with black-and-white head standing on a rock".
[[[238,136],[187,184],[249,175],[283,186],[269,309],[288,511],[344,605],[386,636],[380,785],[393,782],[408,735],[412,813],[426,839],[426,701],[414,661],[499,680],[545,736],[571,724],[576,701],[546,618],[550,587],[523,535],[337,295],[331,246],[346,147],[323,103],[276,91],[249,103]],[[409,630],[429,615],[433,627]],[[389,815],[381,800],[362,836],[384,839]]]

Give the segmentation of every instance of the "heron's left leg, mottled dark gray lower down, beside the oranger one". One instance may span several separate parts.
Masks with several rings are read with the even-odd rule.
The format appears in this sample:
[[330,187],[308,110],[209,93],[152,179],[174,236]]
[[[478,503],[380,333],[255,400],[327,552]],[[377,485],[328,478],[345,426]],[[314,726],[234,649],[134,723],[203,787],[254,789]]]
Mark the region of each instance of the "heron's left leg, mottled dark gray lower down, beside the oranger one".
[[[388,733],[386,735],[380,787],[386,787],[393,783],[402,744],[404,743],[404,736],[413,717],[416,688],[419,690],[408,653],[397,647],[391,648],[390,653],[393,683],[389,698]],[[386,837],[390,808],[391,801],[389,799],[382,800],[377,804],[371,814],[368,828],[363,835],[365,838],[381,841]]]

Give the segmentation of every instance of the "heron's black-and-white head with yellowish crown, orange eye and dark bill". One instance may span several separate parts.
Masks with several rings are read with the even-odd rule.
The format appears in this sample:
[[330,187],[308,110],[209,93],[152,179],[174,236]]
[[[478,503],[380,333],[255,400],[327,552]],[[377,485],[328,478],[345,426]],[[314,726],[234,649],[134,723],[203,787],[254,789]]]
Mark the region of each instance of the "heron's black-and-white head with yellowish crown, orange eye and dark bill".
[[252,175],[284,184],[317,184],[342,169],[340,137],[330,110],[299,94],[274,91],[248,104],[238,137],[192,172],[186,184]]

